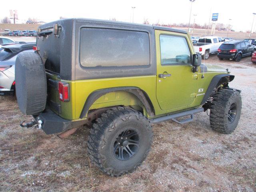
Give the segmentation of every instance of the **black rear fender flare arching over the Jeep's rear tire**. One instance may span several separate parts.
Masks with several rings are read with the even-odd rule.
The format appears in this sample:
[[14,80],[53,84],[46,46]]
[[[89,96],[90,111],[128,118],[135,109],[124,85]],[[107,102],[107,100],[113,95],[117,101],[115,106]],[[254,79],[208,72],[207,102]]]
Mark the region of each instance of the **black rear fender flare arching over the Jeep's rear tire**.
[[149,114],[149,116],[154,116],[154,113],[155,113],[154,106],[153,106],[150,98],[148,97],[148,94],[146,94],[146,92],[144,92],[143,90],[141,90],[138,87],[127,86],[127,87],[114,87],[114,88],[100,89],[100,90],[96,90],[96,91],[92,92],[86,99],[86,102],[84,103],[84,107],[80,114],[80,118],[84,118],[84,116],[88,113],[92,104],[98,98],[100,98],[101,96],[103,96],[106,93],[115,92],[115,91],[126,91],[126,92],[130,92],[130,93],[134,94],[142,102],[142,104],[146,108],[146,111]]

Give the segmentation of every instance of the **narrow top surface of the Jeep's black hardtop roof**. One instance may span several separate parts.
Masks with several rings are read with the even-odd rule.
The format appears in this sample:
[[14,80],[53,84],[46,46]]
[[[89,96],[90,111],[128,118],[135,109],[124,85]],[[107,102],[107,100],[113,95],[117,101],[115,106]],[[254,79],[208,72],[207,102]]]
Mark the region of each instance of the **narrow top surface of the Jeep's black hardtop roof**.
[[110,24],[110,25],[122,25],[122,26],[130,26],[132,28],[153,28],[156,30],[164,30],[164,31],[171,31],[171,32],[178,32],[178,33],[184,33],[187,34],[185,30],[182,29],[176,29],[176,28],[170,28],[170,27],[163,27],[163,26],[156,26],[156,25],[147,25],[147,24],[136,24],[136,23],[129,23],[129,22],[120,22],[120,21],[111,21],[111,20],[99,20],[99,19],[87,19],[87,18],[68,18],[68,19],[62,19],[57,20],[54,22],[50,22],[47,24],[43,24],[40,26],[40,28],[48,27],[49,24],[55,24],[58,21],[70,21],[70,20],[76,20],[76,22],[86,22],[86,23],[93,23],[93,24]]

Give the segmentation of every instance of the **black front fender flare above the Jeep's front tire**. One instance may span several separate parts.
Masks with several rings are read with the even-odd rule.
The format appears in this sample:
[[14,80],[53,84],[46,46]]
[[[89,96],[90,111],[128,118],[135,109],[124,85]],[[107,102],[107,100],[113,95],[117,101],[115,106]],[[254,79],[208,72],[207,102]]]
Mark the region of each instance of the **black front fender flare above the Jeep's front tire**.
[[206,90],[206,92],[204,94],[204,98],[200,105],[202,105],[206,102],[206,100],[209,98],[209,96],[212,93],[212,91],[214,90],[214,88],[217,88],[218,86],[220,86],[220,84],[222,84],[224,82],[230,82],[230,81],[234,80],[234,78],[235,78],[235,76],[230,75],[230,74],[219,74],[219,75],[214,76],[208,86],[208,89]]

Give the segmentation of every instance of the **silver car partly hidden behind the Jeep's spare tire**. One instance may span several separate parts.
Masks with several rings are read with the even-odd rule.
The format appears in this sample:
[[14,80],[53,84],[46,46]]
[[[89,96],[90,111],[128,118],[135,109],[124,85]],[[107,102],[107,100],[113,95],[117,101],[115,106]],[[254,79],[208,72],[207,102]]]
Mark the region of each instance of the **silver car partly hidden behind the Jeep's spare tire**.
[[35,43],[12,44],[0,48],[0,94],[8,94],[15,89],[15,61],[20,52],[34,52]]

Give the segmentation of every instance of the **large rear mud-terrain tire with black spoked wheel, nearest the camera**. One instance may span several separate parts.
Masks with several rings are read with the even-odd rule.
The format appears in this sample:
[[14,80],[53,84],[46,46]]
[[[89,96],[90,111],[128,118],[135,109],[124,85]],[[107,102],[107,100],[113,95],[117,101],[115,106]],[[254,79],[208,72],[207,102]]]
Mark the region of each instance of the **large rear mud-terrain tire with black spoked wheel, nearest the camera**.
[[150,122],[142,113],[115,107],[93,124],[87,145],[91,160],[102,172],[120,176],[142,164],[152,140]]

